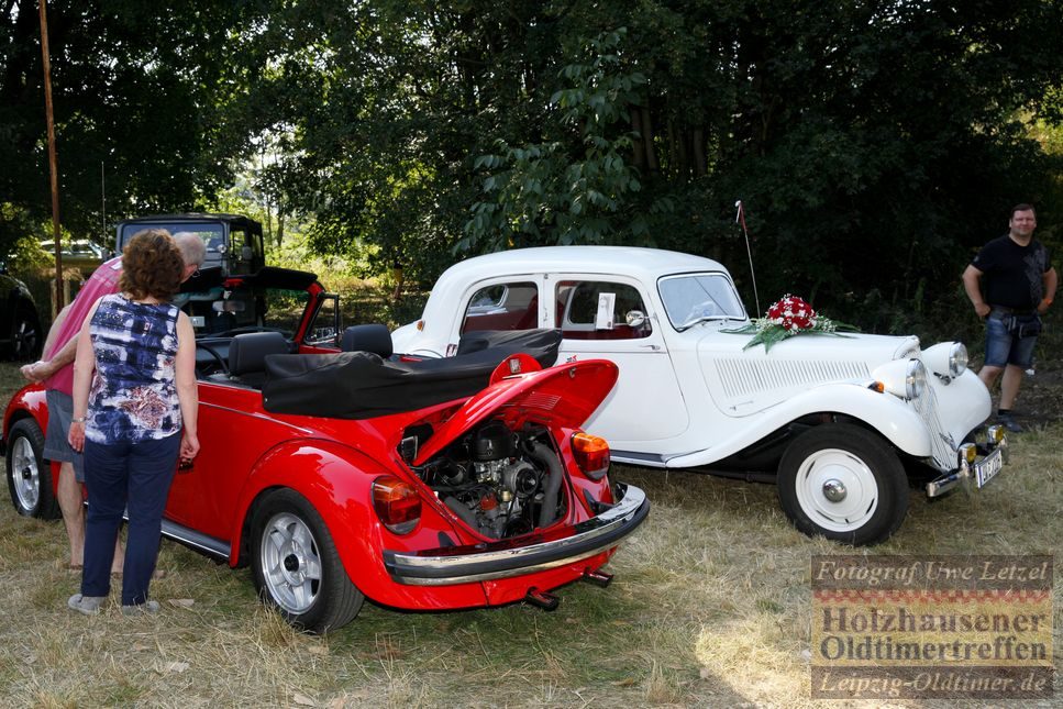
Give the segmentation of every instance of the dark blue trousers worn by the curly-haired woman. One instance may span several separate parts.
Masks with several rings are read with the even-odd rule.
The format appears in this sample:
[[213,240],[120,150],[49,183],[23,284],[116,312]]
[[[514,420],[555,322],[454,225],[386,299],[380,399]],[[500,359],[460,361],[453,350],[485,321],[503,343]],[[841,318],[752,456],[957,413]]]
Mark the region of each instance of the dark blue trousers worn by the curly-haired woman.
[[122,567],[122,605],[147,601],[147,587],[158,558],[163,509],[177,470],[180,442],[180,433],[136,443],[85,441],[89,510],[85,520],[82,596],[107,596],[110,592],[114,541],[128,508],[130,523]]

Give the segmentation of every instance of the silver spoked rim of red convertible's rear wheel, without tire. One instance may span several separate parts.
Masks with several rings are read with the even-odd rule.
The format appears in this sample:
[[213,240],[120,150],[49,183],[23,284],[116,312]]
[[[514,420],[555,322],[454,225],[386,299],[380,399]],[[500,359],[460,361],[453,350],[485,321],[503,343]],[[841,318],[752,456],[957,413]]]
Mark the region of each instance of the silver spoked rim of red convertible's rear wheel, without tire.
[[280,608],[298,616],[313,606],[321,590],[321,557],[306,522],[287,512],[272,517],[262,532],[258,561]]

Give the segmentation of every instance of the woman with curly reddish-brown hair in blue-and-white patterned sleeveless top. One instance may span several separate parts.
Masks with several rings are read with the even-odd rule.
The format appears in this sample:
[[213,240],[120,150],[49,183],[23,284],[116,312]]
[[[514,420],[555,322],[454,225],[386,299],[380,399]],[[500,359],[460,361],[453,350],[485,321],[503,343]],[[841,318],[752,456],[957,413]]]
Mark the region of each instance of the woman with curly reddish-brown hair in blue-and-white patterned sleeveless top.
[[78,335],[69,442],[85,454],[89,509],[81,592],[70,609],[99,612],[122,514],[129,533],[122,611],[158,610],[147,589],[177,458],[199,452],[196,335],[169,299],[185,262],[169,233],[150,229],[122,253],[121,292],[92,307]]

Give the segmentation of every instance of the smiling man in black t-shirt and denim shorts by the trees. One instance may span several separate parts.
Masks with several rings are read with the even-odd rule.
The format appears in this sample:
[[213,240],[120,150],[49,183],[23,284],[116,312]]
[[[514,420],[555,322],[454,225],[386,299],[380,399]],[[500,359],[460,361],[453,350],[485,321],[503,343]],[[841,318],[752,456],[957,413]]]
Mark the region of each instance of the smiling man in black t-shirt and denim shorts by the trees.
[[1033,363],[1037,335],[1029,334],[1029,326],[1017,330],[1009,324],[1044,314],[1058,283],[1048,248],[1033,239],[1036,228],[1037,213],[1031,204],[1014,207],[1008,233],[986,244],[963,272],[963,287],[974,311],[986,321],[985,364],[978,378],[992,388],[1004,372],[997,420],[1015,433],[1022,426],[1011,407],[1022,374]]

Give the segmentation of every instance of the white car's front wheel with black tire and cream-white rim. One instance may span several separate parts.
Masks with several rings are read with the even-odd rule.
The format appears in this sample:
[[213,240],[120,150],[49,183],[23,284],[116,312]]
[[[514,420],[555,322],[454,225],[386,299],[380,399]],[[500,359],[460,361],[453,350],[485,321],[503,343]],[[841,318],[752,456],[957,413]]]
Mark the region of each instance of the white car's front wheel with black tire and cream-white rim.
[[777,483],[783,510],[809,536],[877,544],[908,513],[908,479],[897,452],[852,423],[818,425],[795,439]]

